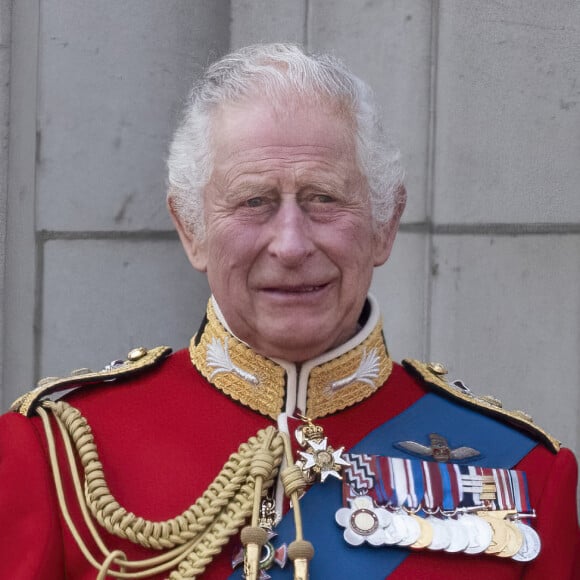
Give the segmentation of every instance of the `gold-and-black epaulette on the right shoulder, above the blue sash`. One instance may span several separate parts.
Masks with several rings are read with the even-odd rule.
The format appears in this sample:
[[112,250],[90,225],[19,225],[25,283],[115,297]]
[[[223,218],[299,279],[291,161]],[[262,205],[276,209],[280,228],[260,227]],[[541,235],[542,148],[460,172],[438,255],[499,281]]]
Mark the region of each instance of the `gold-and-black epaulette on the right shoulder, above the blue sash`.
[[443,379],[447,374],[445,367],[439,363],[423,363],[414,359],[405,359],[403,366],[416,377],[422,379],[432,391],[453,399],[466,407],[477,409],[481,413],[500,419],[525,431],[534,439],[544,443],[550,451],[560,450],[560,441],[552,437],[523,411],[507,411],[502,402],[491,395],[476,396],[469,389],[456,386]]

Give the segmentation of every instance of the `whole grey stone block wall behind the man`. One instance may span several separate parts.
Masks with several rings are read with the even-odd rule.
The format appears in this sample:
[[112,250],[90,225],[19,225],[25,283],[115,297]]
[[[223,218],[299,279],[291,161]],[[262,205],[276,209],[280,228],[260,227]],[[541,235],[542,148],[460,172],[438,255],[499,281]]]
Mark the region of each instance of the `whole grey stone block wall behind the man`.
[[164,158],[206,63],[291,40],[377,90],[409,205],[374,292],[396,359],[580,450],[580,3],[0,0],[2,408],[43,375],[186,345],[208,296]]

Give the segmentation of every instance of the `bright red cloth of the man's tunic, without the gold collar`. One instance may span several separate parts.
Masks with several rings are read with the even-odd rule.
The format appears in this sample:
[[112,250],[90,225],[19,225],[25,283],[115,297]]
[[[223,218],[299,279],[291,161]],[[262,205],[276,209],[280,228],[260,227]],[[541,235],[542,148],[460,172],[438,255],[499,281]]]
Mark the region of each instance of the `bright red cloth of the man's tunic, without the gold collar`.
[[[317,423],[331,443],[349,448],[424,393],[395,365],[387,384],[372,397]],[[187,351],[137,378],[84,387],[67,400],[91,425],[113,495],[127,510],[152,520],[174,517],[193,504],[240,443],[272,424],[206,383],[191,366]],[[60,442],[58,452],[64,456]],[[61,465],[66,473],[64,462]],[[566,450],[554,455],[538,446],[518,467],[528,473],[532,505],[539,514],[537,529],[544,548],[536,561],[519,564],[489,556],[413,552],[390,578],[575,578],[572,562],[580,537],[573,456]],[[73,520],[102,560],[80,523],[68,478],[65,485]],[[109,549],[121,549],[129,559],[155,555],[106,532],[103,536]],[[96,576],[60,515],[42,425],[38,418],[15,413],[0,418],[0,546],[2,579]],[[227,578],[231,555],[231,546],[226,546],[203,577]]]

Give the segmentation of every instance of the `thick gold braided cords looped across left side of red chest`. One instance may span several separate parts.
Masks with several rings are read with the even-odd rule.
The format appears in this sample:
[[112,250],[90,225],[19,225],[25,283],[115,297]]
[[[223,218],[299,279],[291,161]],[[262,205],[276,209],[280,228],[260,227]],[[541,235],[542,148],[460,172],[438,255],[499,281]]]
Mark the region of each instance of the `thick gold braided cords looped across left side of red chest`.
[[[56,419],[65,445],[66,456],[83,519],[104,556],[99,562],[88,550],[68,512],[52,425],[47,411]],[[45,401],[38,409],[49,446],[53,477],[63,517],[79,548],[89,563],[99,570],[98,578],[147,578],[171,568],[172,580],[197,578],[237,533],[252,514],[256,493],[256,464],[261,468],[265,491],[272,486],[284,453],[284,440],[274,427],[259,431],[233,453],[221,472],[203,495],[182,514],[170,520],[152,522],[128,512],[115,500],[106,483],[97,448],[86,419],[65,401]],[[74,445],[74,449],[73,449]],[[81,483],[75,450],[84,472]],[[90,511],[90,514],[89,514]],[[120,551],[111,552],[100,537],[90,515],[119,538],[128,539],[146,548],[167,550],[141,561],[128,561]],[[117,566],[119,571],[111,570]],[[177,568],[175,569],[175,567]],[[126,569],[134,571],[126,572]]]

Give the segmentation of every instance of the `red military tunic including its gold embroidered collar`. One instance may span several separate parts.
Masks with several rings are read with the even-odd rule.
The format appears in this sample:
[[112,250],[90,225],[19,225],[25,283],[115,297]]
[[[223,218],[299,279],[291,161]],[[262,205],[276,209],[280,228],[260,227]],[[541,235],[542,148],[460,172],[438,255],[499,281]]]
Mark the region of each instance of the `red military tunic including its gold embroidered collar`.
[[[210,307],[208,317],[189,351],[179,351],[127,378],[85,385],[66,397],[88,420],[112,494],[126,510],[146,519],[166,520],[193,504],[228,456],[258,430],[276,425],[274,418],[282,410],[290,414],[296,409],[306,411],[324,428],[335,448],[348,449],[430,389],[415,373],[393,364],[384,346],[382,350],[378,346],[382,344],[380,323],[373,309],[347,345],[312,364],[305,363],[300,370],[252,353],[220,323],[219,311],[216,315]],[[220,345],[222,350],[216,350]],[[356,361],[371,350],[380,359],[375,367],[377,385],[352,373]],[[229,355],[230,370],[225,370],[224,354]],[[349,379],[349,375],[353,376]],[[334,382],[329,383],[333,377]],[[329,384],[334,391],[328,389]],[[53,432],[71,519],[91,553],[102,562],[104,556],[90,538],[74,501],[61,438],[57,429]],[[418,440],[424,436],[417,433]],[[534,522],[542,540],[538,558],[519,563],[489,555],[413,551],[389,578],[578,577],[574,558],[580,535],[573,455],[566,449],[555,453],[539,443],[515,467],[527,474],[531,505],[538,514]],[[157,554],[100,531],[108,549],[122,550],[128,560]],[[315,550],[322,553],[324,541],[314,540],[314,532],[305,530],[305,538],[312,539]],[[233,544],[225,546],[209,564],[204,578],[231,574]],[[9,413],[0,418],[0,545],[0,578],[97,577],[59,509],[47,439],[38,417]],[[366,577],[364,570],[360,574]],[[276,577],[273,571],[272,575]],[[153,577],[167,576],[165,572]]]

